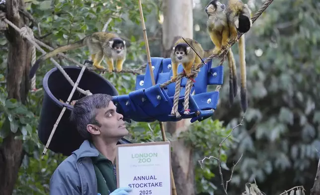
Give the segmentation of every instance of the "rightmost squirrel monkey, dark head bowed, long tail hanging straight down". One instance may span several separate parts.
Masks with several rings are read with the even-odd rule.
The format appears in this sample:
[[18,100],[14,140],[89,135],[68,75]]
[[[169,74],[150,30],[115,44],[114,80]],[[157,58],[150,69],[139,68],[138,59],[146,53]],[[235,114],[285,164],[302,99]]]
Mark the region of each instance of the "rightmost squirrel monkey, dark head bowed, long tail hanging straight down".
[[[241,0],[229,0],[227,7],[227,17],[230,28],[230,39],[238,41],[238,31],[247,32],[252,26],[250,19],[251,10],[247,4]],[[238,30],[238,31],[237,31]],[[245,65],[245,40],[244,34],[239,39],[239,59],[240,59],[240,103],[243,112],[248,106],[246,98],[246,65]]]

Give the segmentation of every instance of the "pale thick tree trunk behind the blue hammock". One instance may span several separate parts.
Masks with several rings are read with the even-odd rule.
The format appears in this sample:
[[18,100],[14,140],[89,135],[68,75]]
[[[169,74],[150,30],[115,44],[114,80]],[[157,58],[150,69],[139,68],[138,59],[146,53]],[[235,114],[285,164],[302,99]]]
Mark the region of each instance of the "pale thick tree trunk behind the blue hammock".
[[[193,38],[192,0],[163,0],[162,57],[170,57],[172,45],[179,36]],[[190,119],[166,122],[173,138],[187,131]],[[171,142],[171,166],[177,195],[194,195],[194,164],[191,147],[183,140]]]

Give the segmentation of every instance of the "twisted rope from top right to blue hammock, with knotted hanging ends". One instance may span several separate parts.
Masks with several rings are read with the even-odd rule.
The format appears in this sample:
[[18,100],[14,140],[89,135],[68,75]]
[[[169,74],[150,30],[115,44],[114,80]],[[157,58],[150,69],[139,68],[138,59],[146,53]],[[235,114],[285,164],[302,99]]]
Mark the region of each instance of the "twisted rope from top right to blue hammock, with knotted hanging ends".
[[[273,0],[266,0],[265,3],[257,10],[257,12],[255,12],[255,14],[253,15],[253,17],[251,17],[252,20],[252,24],[255,22],[255,20],[262,14],[262,12],[272,3]],[[243,33],[240,33],[238,35],[238,40],[239,38],[242,36]],[[223,62],[225,61],[225,57],[227,55],[227,52],[229,50],[229,48],[231,48],[236,42],[238,41],[229,41],[230,46],[228,48],[225,48],[220,54],[216,55],[213,54],[211,56],[209,56],[208,58],[206,58],[206,60],[200,64],[198,64],[196,66],[196,70],[191,72],[191,77],[196,78],[198,73],[200,72],[200,68],[203,67],[204,64],[207,64],[210,60],[214,59],[214,58],[221,58],[220,61],[220,65],[219,66],[223,66]],[[179,99],[179,95],[180,95],[180,84],[181,84],[181,78],[185,76],[184,72],[181,72],[177,75],[177,79],[176,79],[176,87],[175,87],[175,93],[174,93],[174,97],[173,97],[173,107],[171,110],[171,114],[175,114],[176,117],[180,117],[181,115],[178,112],[178,99]],[[190,82],[190,79],[188,79],[187,84]],[[173,83],[171,80],[163,83],[160,85],[160,88],[164,88],[166,86],[168,86],[169,84]],[[188,109],[188,105],[189,105],[189,94],[191,92],[191,88],[192,88],[192,84],[186,85],[185,86],[185,95],[184,95],[184,113],[188,113],[188,111],[186,111]],[[221,85],[218,85],[216,87],[216,92],[219,92],[219,90],[221,89]]]

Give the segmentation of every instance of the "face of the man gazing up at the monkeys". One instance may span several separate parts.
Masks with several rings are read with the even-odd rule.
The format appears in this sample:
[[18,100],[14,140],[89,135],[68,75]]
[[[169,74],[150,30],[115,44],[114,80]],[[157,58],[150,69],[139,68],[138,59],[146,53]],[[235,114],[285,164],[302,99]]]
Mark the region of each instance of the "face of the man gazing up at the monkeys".
[[108,107],[97,110],[95,119],[100,123],[100,136],[103,139],[121,138],[129,132],[122,120],[123,115],[116,111],[116,106],[110,101]]

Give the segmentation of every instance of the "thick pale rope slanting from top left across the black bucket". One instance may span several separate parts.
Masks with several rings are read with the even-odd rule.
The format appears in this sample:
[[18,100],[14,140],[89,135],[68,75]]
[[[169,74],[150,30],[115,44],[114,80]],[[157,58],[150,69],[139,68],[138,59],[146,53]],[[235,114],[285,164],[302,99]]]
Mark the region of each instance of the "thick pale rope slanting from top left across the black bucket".
[[[0,14],[2,13],[2,11],[0,11]],[[34,41],[30,38],[27,30],[24,30],[23,28],[18,28],[16,25],[14,25],[12,22],[10,22],[8,19],[4,18],[2,19],[3,21],[5,21],[7,24],[9,24],[12,28],[14,28],[16,31],[18,31],[23,38],[26,38],[30,43],[32,43],[39,51],[41,51],[43,54],[46,54],[46,52]],[[75,86],[75,83],[71,80],[71,78],[69,77],[69,75],[65,72],[65,70],[63,70],[63,68],[58,64],[58,62],[56,62],[54,59],[50,58],[51,62],[53,62],[55,64],[55,66],[61,71],[61,73],[63,74],[63,76],[67,79],[67,81],[72,85],[72,87]],[[77,90],[84,94],[85,96],[90,96],[92,95],[90,93],[90,91],[84,91],[82,89],[80,89],[79,87],[77,87]]]

